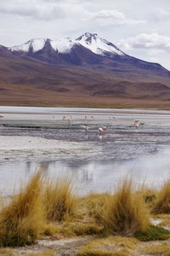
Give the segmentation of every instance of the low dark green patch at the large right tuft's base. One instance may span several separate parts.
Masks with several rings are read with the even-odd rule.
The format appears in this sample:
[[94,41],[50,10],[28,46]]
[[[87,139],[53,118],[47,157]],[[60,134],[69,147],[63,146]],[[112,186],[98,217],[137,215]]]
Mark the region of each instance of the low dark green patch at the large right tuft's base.
[[167,240],[170,237],[170,231],[159,226],[150,225],[144,232],[136,232],[134,236],[140,241]]

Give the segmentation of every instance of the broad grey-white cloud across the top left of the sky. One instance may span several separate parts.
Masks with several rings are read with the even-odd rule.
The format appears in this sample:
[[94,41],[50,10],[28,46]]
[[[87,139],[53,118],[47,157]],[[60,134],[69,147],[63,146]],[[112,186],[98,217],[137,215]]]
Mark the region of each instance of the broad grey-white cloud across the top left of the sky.
[[[122,12],[116,9],[86,9],[83,1],[76,0],[54,1],[54,0],[8,0],[0,5],[0,14],[18,15],[31,17],[37,20],[59,20],[74,19],[97,21],[101,26],[114,26],[126,24],[143,23],[144,20],[133,20],[127,18]],[[77,3],[76,3],[77,2]]]

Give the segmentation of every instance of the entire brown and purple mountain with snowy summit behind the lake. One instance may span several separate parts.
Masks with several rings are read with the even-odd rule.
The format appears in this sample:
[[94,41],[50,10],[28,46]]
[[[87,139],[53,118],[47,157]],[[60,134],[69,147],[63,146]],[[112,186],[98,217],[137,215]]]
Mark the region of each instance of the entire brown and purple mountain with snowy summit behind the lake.
[[55,50],[50,39],[33,45],[36,51],[27,45],[31,40],[24,48],[27,51],[0,46],[1,104],[169,108],[170,72],[160,64],[127,55],[97,34],[75,39],[83,45],[69,40],[66,47],[63,40],[58,42],[65,53]]

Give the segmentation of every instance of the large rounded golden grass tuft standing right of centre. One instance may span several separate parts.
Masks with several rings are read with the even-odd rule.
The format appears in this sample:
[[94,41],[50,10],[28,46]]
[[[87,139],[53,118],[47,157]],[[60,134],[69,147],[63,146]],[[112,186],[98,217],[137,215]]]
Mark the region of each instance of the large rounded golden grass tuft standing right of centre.
[[111,234],[132,235],[149,226],[149,212],[143,199],[133,189],[132,181],[124,181],[116,194],[107,197],[100,218]]

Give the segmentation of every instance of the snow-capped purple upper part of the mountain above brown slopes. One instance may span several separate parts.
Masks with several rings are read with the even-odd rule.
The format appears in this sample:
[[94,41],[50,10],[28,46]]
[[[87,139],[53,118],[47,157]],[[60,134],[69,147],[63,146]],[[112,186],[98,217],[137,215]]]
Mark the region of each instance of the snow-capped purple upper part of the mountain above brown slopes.
[[107,71],[125,73],[125,69],[141,68],[156,73],[169,73],[157,63],[142,61],[125,54],[115,44],[100,38],[96,33],[84,33],[79,38],[49,38],[31,39],[26,44],[9,47],[13,55],[31,58],[31,61],[41,61],[52,65],[69,65],[79,67],[93,67]]

